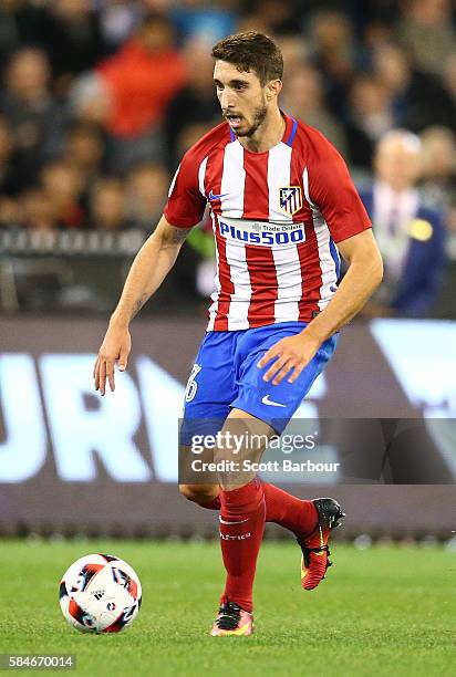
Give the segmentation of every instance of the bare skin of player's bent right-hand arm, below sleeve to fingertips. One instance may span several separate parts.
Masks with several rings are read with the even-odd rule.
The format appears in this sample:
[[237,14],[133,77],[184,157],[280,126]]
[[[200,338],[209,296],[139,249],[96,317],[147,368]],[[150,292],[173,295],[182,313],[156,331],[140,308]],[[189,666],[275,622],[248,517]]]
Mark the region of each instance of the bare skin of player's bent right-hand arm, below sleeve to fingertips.
[[383,263],[372,230],[364,230],[342,242],[339,250],[349,270],[327,308],[296,336],[276,343],[260,360],[259,367],[272,362],[265,381],[278,385],[286,376],[293,383],[320,345],[350,322],[382,281]]

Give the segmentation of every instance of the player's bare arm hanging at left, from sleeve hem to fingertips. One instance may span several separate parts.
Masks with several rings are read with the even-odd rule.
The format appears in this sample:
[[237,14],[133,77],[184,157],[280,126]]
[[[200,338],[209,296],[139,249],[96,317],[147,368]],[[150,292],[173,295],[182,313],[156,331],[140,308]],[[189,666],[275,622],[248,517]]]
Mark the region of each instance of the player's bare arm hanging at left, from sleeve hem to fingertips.
[[189,230],[176,228],[162,217],[156,230],[136,254],[93,369],[95,390],[100,390],[102,395],[106,390],[106,378],[111,390],[115,388],[115,363],[118,362],[121,372],[126,368],[132,347],[129,322],[173,268]]

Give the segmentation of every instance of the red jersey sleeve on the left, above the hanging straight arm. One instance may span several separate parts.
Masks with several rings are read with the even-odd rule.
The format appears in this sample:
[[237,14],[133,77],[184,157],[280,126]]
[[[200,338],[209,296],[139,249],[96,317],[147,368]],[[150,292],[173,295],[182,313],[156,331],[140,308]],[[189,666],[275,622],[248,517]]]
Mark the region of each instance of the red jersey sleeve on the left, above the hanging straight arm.
[[199,190],[199,165],[190,149],[177,168],[169,187],[168,201],[163,210],[165,219],[172,226],[191,228],[203,219],[206,198]]

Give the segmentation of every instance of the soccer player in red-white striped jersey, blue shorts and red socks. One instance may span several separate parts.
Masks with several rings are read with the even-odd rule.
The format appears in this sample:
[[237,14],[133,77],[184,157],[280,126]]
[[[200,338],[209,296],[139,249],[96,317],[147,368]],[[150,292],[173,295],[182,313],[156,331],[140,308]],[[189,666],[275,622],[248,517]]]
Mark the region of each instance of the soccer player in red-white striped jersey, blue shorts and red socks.
[[[268,438],[280,434],[331,358],[339,330],[382,279],[371,223],[343,159],[319,132],[279,108],[283,62],[276,43],[259,32],[240,33],[217,43],[211,55],[225,121],[185,154],[94,367],[95,388],[104,395],[107,379],[113,390],[115,363],[126,368],[131,320],[209,204],[216,291],[186,390],[183,445],[199,423],[215,419],[225,421],[222,436],[239,430],[239,423]],[[348,272],[338,287],[339,252]],[[220,444],[215,460],[226,459],[226,451]],[[342,517],[333,499],[300,500],[255,473],[221,473],[217,483],[186,483],[180,491],[219,511],[227,580],[213,635],[252,632],[266,521],[296,534],[304,590],[324,577],[328,539]]]

